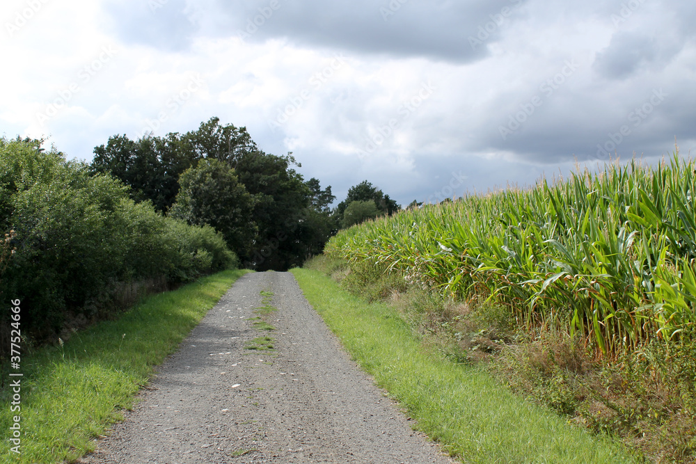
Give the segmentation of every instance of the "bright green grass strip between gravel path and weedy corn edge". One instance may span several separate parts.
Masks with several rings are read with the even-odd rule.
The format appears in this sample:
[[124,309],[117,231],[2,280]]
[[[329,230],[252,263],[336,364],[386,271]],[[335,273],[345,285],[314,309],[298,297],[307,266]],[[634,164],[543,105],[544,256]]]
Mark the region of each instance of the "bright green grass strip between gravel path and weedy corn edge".
[[628,463],[620,445],[515,397],[480,368],[423,348],[400,314],[342,291],[319,271],[293,269],[331,330],[417,428],[471,463]]

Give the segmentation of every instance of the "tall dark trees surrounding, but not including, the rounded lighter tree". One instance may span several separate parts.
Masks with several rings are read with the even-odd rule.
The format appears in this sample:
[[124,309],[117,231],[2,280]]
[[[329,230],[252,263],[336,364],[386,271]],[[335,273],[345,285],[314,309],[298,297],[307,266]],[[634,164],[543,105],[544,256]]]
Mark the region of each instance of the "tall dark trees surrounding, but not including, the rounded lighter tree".
[[[330,186],[321,189],[317,179],[305,182],[295,170],[301,166],[292,154],[264,153],[246,128],[221,125],[219,118],[210,118],[186,134],[145,136],[138,141],[113,136],[109,143],[95,148],[90,168],[111,173],[131,187],[132,198],[151,200],[159,211],[166,212],[177,200],[180,176],[200,160],[225,163],[251,195],[253,209],[246,218],[256,229],[251,245],[230,242],[246,266],[282,270],[301,265],[306,255],[317,253],[338,229],[329,209],[335,200]],[[207,185],[212,192],[215,184]],[[191,201],[195,199],[191,197]],[[177,209],[175,214],[182,211]]]

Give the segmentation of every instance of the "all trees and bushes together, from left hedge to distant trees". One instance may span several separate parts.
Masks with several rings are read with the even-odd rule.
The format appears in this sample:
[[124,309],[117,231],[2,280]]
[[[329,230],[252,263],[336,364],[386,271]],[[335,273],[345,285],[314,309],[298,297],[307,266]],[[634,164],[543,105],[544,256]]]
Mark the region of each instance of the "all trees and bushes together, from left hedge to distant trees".
[[[331,186],[304,180],[291,153],[267,154],[218,118],[111,136],[91,163],[44,143],[0,138],[0,296],[24,302],[36,341],[109,317],[129,288],[301,266],[340,228],[399,209],[367,181],[332,208]],[[2,346],[8,335],[0,326]]]

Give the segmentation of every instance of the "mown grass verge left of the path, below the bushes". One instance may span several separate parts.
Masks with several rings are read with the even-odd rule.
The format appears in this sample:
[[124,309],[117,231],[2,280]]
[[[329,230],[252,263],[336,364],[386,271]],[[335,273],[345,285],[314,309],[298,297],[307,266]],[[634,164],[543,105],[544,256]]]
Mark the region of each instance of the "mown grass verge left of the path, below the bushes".
[[17,463],[71,461],[122,419],[152,367],[175,352],[191,329],[248,271],[223,271],[144,298],[118,319],[74,334],[63,346],[22,357],[22,454],[10,455],[7,390],[0,395],[0,455]]

